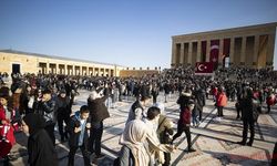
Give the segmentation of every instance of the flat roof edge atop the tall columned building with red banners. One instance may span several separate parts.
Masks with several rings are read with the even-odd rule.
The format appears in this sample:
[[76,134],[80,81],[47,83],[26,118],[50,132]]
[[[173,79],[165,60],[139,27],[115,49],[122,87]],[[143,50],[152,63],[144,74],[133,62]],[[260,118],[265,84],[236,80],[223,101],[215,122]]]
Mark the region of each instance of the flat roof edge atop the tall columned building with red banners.
[[222,30],[214,30],[214,31],[179,34],[179,35],[173,35],[172,39],[179,38],[179,37],[182,38],[182,37],[191,37],[191,35],[205,35],[205,34],[209,34],[209,33],[223,33],[223,32],[228,32],[228,31],[250,30],[250,29],[258,29],[258,28],[265,28],[265,27],[277,27],[277,22],[246,25],[246,27],[237,27],[237,28],[229,28],[229,29],[222,29]]

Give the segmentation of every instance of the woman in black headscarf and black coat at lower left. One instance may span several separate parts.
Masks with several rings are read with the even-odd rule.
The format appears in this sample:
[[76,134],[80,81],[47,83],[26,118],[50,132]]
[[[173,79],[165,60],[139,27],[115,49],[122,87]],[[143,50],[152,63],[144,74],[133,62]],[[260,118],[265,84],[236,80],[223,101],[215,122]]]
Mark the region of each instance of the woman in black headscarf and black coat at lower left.
[[22,129],[29,134],[28,163],[30,166],[58,166],[53,143],[44,127],[45,121],[39,114],[30,113],[23,117]]

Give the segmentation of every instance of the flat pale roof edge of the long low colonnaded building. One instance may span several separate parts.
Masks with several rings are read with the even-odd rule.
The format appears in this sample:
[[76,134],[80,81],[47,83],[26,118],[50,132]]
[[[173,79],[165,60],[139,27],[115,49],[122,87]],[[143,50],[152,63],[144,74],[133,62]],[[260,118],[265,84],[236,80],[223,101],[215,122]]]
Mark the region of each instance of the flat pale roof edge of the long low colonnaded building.
[[71,59],[71,58],[64,58],[64,56],[58,56],[58,55],[48,55],[48,54],[40,54],[40,53],[23,52],[23,51],[18,51],[18,50],[12,50],[12,49],[0,50],[0,52],[4,52],[4,53],[14,53],[14,54],[19,54],[19,55],[32,55],[32,56],[47,58],[47,59],[58,59],[58,60],[78,61],[78,62],[85,62],[85,63],[96,63],[96,64],[103,64],[103,65],[116,65],[116,66],[122,66],[122,65],[112,64],[112,63],[103,63],[103,62],[95,62],[95,61],[88,61],[88,60]]

